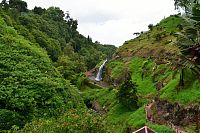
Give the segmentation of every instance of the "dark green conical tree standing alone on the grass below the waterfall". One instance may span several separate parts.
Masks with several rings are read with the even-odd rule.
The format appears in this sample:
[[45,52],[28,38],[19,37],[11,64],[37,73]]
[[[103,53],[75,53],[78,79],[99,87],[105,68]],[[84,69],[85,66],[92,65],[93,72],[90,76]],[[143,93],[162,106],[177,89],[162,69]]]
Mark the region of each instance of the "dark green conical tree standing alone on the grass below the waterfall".
[[132,82],[131,76],[129,75],[126,80],[122,83],[117,93],[119,102],[126,106],[128,109],[137,109],[138,96],[137,96],[137,85]]

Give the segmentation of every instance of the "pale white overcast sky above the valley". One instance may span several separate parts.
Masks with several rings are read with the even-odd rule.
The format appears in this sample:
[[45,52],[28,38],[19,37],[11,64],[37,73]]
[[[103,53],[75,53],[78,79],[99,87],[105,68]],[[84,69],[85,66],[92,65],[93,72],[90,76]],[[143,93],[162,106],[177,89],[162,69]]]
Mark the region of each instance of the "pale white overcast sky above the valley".
[[60,7],[78,20],[78,31],[103,44],[122,45],[134,32],[148,30],[176,14],[174,0],[25,0],[28,8]]

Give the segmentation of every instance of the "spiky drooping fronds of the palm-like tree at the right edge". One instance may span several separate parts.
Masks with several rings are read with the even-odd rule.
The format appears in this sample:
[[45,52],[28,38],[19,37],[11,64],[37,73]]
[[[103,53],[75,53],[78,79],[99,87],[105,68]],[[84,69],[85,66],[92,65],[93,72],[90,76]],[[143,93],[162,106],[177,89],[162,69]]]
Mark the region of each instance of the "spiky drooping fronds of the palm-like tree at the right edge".
[[181,50],[181,60],[184,60],[185,67],[200,72],[200,5],[194,4],[191,15],[182,16],[187,22],[183,30],[177,33],[177,46]]

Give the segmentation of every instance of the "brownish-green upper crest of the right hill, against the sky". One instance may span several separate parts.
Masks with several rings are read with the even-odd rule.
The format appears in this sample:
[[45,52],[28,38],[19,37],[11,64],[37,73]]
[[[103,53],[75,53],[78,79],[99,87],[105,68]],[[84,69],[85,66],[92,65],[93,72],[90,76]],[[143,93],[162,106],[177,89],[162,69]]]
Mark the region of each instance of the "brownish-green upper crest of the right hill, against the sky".
[[158,56],[164,51],[177,52],[177,48],[173,45],[175,42],[175,33],[177,25],[181,19],[178,16],[172,16],[163,19],[159,24],[154,26],[152,31],[147,31],[139,37],[126,41],[122,45],[117,54],[120,57],[127,58],[134,56],[148,57]]

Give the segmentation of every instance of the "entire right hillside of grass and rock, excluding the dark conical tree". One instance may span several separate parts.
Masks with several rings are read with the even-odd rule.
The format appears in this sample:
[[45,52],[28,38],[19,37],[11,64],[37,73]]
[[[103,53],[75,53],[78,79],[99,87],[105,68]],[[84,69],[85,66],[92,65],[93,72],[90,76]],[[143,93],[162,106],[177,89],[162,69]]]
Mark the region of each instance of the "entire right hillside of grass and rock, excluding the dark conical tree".
[[[180,86],[181,70],[174,65],[180,54],[176,33],[183,25],[187,23],[180,16],[170,16],[151,30],[126,41],[106,64],[104,82],[110,83],[110,88],[83,92],[86,101],[98,101],[107,111],[105,121],[113,127],[113,132],[130,132],[148,125],[157,132],[172,133],[169,123],[195,132],[195,112],[200,102],[199,75],[185,68],[184,86]],[[118,92],[127,75],[137,85],[139,108],[135,110],[119,102]],[[144,107],[149,103],[154,103],[154,123],[146,120]]]

